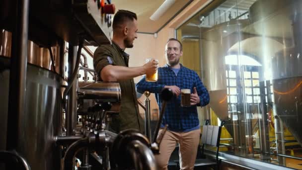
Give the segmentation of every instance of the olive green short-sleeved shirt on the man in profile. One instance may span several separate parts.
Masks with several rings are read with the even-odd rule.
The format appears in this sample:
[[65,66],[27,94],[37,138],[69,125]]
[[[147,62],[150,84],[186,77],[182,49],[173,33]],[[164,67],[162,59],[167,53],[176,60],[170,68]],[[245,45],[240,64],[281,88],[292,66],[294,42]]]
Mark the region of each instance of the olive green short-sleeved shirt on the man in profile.
[[[107,65],[128,67],[129,55],[117,44],[99,46],[93,56],[93,66],[96,73]],[[100,75],[99,75],[100,78]],[[121,108],[118,115],[114,115],[110,128],[119,133],[125,129],[137,129],[144,132],[144,121],[139,114],[139,106],[133,79],[118,81],[121,86]]]

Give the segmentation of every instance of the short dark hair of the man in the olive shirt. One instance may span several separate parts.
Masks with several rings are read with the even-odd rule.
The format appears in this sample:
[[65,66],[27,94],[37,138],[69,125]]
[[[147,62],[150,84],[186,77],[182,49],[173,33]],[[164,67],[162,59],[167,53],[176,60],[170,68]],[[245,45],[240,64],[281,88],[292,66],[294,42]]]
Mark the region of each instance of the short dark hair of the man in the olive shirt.
[[136,13],[131,12],[129,10],[122,10],[122,9],[120,9],[114,15],[112,28],[116,29],[120,25],[122,25],[123,23],[125,23],[126,21],[129,21],[129,20],[133,21],[134,19],[138,20],[138,17],[136,15]]

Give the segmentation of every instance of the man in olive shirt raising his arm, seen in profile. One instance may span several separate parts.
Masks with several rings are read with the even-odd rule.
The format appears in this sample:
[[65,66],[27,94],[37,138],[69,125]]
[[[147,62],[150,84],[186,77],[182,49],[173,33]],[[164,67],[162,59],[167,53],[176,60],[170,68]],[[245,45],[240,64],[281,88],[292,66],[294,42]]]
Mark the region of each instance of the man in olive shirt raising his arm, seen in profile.
[[112,117],[110,128],[116,133],[130,128],[144,132],[144,121],[139,114],[133,78],[155,73],[158,63],[153,60],[141,67],[128,67],[129,55],[125,49],[132,48],[133,41],[137,38],[135,13],[119,10],[113,18],[112,27],[112,44],[98,47],[93,57],[93,66],[99,78],[104,82],[117,81],[121,87],[120,113]]

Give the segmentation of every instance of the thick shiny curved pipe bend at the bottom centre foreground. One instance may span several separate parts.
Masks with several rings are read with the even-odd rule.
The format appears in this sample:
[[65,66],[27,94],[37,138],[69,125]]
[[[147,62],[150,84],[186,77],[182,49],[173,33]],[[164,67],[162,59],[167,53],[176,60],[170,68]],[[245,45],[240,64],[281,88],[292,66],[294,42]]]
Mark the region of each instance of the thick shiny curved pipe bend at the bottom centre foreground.
[[155,158],[151,150],[139,140],[134,140],[128,145],[135,170],[157,170]]

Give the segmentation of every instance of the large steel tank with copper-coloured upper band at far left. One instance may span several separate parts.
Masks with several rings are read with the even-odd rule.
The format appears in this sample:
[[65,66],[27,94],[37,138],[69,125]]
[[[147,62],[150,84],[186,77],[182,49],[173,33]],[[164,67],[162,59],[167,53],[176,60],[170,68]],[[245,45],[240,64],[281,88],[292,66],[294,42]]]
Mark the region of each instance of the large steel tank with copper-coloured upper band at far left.
[[[0,34],[0,149],[5,150],[7,133],[7,107],[10,70],[11,34],[1,31]],[[62,155],[55,145],[54,137],[61,135],[62,128],[62,75],[54,72],[46,49],[33,42],[28,42],[28,64],[26,79],[25,114],[19,117],[19,141],[16,151],[23,156],[32,170],[60,170]],[[43,50],[41,50],[43,49]],[[53,47],[58,49],[59,46]],[[41,53],[35,53],[43,51]],[[58,51],[53,51],[58,56]],[[55,57],[56,58],[56,57]],[[39,61],[39,62],[37,62]],[[33,63],[33,64],[30,64]],[[59,62],[59,60],[57,60]],[[39,64],[40,63],[40,64]],[[43,65],[43,63],[47,63]],[[58,63],[58,70],[60,63]],[[61,65],[62,66],[62,65]],[[26,116],[25,116],[26,115]]]

